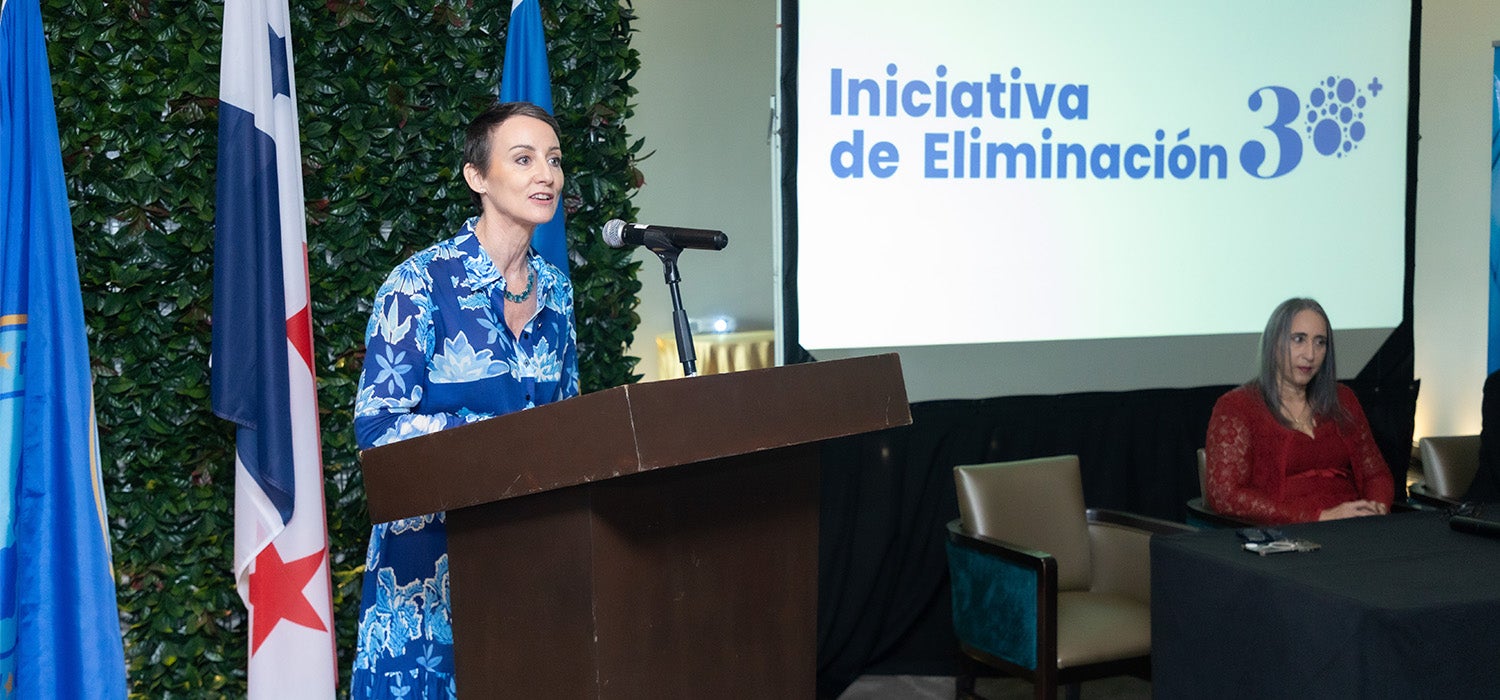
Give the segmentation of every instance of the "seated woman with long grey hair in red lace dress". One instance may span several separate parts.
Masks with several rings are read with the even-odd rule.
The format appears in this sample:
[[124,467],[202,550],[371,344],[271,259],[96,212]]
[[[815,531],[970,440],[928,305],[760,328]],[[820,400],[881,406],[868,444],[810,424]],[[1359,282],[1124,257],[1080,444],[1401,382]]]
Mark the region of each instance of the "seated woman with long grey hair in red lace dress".
[[1390,471],[1354,391],[1338,384],[1334,331],[1310,298],[1270,313],[1260,375],[1214,405],[1204,451],[1204,496],[1226,516],[1282,525],[1390,510]]

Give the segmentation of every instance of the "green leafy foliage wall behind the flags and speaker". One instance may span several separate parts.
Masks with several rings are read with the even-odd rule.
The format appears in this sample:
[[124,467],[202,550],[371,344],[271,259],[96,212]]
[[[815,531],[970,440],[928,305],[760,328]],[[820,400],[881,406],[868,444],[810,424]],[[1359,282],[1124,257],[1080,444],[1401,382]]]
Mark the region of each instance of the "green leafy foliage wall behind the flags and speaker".
[[[208,409],[222,3],[42,0],[132,696],[243,697],[232,429]],[[470,216],[464,124],[495,100],[508,0],[291,0],[340,687],[369,519],[351,429],[376,285]],[[628,0],[546,0],[584,391],[632,382]]]

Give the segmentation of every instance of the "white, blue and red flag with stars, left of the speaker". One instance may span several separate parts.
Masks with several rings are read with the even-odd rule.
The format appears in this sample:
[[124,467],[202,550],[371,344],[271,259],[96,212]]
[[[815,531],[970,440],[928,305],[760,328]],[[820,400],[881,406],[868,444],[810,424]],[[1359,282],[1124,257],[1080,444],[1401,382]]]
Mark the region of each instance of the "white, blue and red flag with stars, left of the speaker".
[[238,426],[234,574],[249,697],[333,697],[338,660],[286,0],[226,0],[213,411]]

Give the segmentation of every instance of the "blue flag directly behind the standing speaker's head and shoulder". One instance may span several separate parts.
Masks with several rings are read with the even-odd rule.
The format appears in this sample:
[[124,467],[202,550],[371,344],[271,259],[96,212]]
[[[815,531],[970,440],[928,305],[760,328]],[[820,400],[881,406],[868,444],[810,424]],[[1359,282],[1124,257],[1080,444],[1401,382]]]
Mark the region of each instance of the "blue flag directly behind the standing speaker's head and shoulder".
[[[501,102],[531,102],[552,112],[552,79],[548,76],[548,39],[542,31],[540,0],[513,0],[510,25],[506,28],[506,63],[500,73]],[[561,136],[561,135],[560,135]],[[531,235],[548,262],[568,273],[567,228],[561,204],[552,220],[537,226]]]

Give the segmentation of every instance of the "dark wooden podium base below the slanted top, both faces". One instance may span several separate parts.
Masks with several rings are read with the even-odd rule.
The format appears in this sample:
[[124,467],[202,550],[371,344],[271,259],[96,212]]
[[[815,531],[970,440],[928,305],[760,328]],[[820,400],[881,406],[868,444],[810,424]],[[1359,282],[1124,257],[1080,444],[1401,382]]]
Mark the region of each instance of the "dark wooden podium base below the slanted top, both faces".
[[450,513],[460,697],[813,697],[818,454]]

